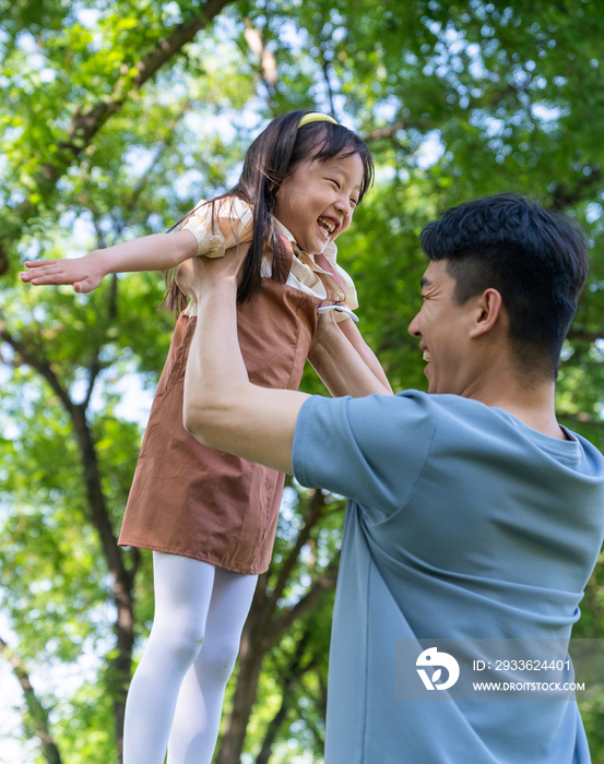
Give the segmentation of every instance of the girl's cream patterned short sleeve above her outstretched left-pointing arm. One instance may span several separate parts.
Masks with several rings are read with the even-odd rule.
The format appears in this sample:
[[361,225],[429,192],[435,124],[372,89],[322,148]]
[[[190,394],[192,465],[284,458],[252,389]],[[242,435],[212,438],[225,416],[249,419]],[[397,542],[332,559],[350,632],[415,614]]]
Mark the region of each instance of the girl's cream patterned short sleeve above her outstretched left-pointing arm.
[[196,254],[222,258],[230,247],[251,241],[252,217],[251,207],[240,199],[223,199],[215,205],[201,201],[180,229],[190,230],[196,237]]

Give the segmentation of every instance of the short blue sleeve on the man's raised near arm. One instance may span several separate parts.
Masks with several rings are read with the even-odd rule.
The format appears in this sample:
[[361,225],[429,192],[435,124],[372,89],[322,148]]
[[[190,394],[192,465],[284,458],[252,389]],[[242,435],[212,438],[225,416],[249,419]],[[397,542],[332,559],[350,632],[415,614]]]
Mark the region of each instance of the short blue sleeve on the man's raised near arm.
[[425,393],[312,396],[294,435],[296,479],[390,514],[411,497],[430,451],[436,413]]

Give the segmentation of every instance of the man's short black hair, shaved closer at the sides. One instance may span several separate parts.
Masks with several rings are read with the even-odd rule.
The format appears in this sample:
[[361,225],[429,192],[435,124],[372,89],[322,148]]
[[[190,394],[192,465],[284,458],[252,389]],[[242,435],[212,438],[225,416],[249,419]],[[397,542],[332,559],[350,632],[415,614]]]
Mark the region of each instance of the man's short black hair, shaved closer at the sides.
[[524,196],[504,193],[448,210],[419,240],[429,260],[447,260],[460,305],[485,289],[499,291],[520,367],[555,379],[589,271],[579,226]]

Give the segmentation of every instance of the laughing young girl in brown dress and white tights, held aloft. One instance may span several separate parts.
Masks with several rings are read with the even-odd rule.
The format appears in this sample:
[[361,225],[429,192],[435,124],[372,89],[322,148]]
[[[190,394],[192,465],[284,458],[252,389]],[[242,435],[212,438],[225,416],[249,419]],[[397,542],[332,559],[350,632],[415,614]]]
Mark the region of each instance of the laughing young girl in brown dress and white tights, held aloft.
[[[96,288],[109,273],[168,271],[251,242],[238,293],[250,381],[298,387],[317,313],[340,327],[387,386],[351,321],[354,284],[334,239],[372,179],[363,141],[333,119],[294,111],[248,150],[239,182],[200,203],[176,232],[85,258],[27,262],[32,284]],[[168,306],[187,303],[176,282]],[[119,544],[153,550],[155,617],[126,711],[125,764],[210,764],[224,690],[259,573],[273,547],[284,476],[201,445],[182,425],[182,385],[197,306],[178,318],[128,500]],[[356,320],[356,317],[354,317]],[[318,370],[320,373],[320,370]],[[170,732],[171,730],[171,732]]]

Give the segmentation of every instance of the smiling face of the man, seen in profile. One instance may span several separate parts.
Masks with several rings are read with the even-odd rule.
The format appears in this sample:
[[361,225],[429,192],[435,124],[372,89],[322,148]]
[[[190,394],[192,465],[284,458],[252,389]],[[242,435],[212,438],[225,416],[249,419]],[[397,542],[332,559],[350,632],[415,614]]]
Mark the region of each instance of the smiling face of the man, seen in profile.
[[422,279],[422,310],[408,332],[419,337],[419,349],[427,361],[428,393],[462,395],[472,381],[473,348],[470,332],[476,315],[476,301],[455,302],[455,279],[447,273],[447,261],[431,262]]

